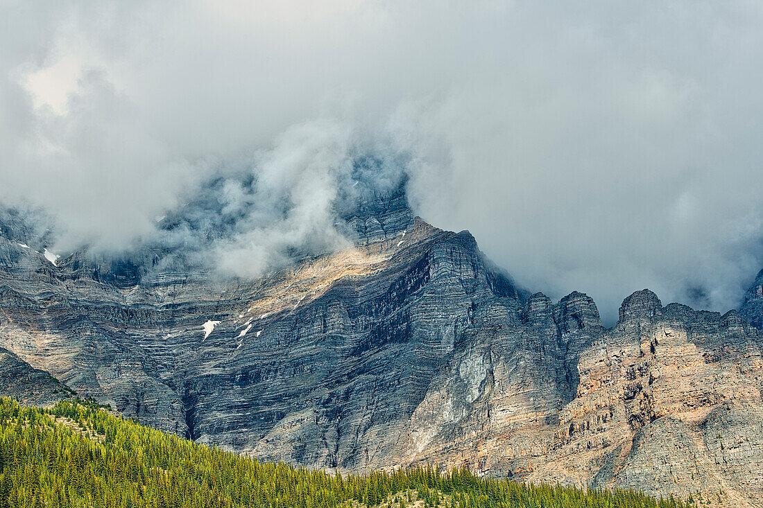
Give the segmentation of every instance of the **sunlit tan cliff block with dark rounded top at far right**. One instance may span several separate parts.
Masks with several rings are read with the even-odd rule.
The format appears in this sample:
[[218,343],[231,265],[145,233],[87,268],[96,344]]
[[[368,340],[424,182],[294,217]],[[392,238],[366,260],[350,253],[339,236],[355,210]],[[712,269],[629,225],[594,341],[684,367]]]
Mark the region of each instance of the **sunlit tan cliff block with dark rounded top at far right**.
[[[571,465],[600,466],[594,485],[757,499],[761,351],[760,333],[736,311],[662,307],[655,294],[636,292],[617,326],[581,356],[578,397],[560,419],[560,454]],[[718,453],[740,447],[743,465]],[[575,450],[584,453],[568,453]]]

